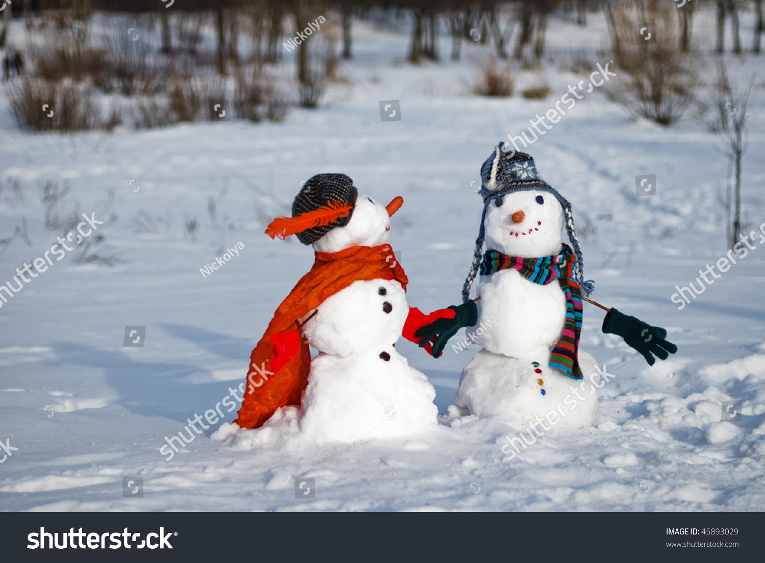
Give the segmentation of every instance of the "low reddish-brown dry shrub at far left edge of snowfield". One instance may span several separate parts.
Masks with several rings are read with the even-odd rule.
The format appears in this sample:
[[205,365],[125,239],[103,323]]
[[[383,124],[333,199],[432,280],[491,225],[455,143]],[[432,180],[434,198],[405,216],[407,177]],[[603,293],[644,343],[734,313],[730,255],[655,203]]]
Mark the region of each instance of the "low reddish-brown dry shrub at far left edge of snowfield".
[[18,124],[34,131],[99,129],[103,120],[93,94],[90,86],[28,76],[8,89],[11,112]]

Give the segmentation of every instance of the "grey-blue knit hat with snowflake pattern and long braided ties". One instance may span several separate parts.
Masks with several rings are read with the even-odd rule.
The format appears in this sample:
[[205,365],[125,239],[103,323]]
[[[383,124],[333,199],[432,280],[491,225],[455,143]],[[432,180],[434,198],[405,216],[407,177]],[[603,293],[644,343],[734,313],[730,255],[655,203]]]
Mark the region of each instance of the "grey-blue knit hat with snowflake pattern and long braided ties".
[[571,203],[568,203],[565,197],[558,194],[558,190],[555,190],[554,187],[542,180],[531,155],[512,150],[505,152],[503,150],[504,145],[504,142],[500,141],[500,144],[496,145],[491,156],[480,167],[481,187],[478,193],[483,197],[483,213],[481,213],[480,217],[480,230],[476,239],[473,264],[470,266],[470,273],[467,275],[465,284],[462,287],[462,301],[470,299],[470,286],[473,285],[481,259],[483,259],[483,239],[486,235],[483,221],[486,219],[489,203],[494,200],[496,206],[500,207],[504,195],[528,190],[549,192],[561,203],[565,213],[566,232],[576,256],[574,275],[581,288],[582,295],[587,297],[594,290],[595,282],[592,280],[584,281],[581,247],[574,230],[574,216],[571,214]]

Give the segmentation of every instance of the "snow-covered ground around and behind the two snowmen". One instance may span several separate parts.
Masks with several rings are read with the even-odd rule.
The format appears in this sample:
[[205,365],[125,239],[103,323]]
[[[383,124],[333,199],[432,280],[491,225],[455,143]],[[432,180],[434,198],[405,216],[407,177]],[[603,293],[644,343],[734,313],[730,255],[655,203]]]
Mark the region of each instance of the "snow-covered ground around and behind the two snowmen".
[[[577,44],[594,53],[601,24],[591,18],[582,30],[553,21],[552,52]],[[705,29],[711,23],[697,18],[698,41]],[[447,47],[444,38],[442,53]],[[601,334],[601,311],[588,306],[583,347],[615,376],[601,390],[594,427],[553,428],[504,461],[504,437],[526,429],[522,421],[446,414],[477,347],[448,347],[434,360],[399,340],[399,352],[437,390],[441,425],[432,434],[317,446],[298,434],[297,413],[287,409],[234,438],[219,422],[164,460],[164,437],[243,381],[272,312],[311,266],[310,249],[262,233],[301,180],[341,171],[379,201],[402,195],[391,243],[410,278],[409,304],[454,304],[478,229],[471,181],[480,164],[581,78],[550,70],[553,93],[543,101],[482,99],[463,86],[468,57],[412,67],[402,62],[404,37],[364,23],[355,49],[340,67],[349,83],[284,124],[31,134],[11,125],[2,101],[0,233],[11,236],[25,219],[31,246],[8,246],[0,280],[60,234],[44,228],[46,181],[70,187],[62,214],[116,213],[98,233],[129,262],[77,264],[67,253],[3,305],[0,440],[18,450],[0,464],[0,509],[761,510],[765,251],[757,243],[678,311],[669,301],[675,284],[687,285],[728,251],[716,199],[727,170],[715,150],[720,139],[691,117],[670,129],[632,122],[597,92],[529,152],[571,200],[582,235],[584,216],[590,220],[582,238],[594,298],[666,327],[679,352],[649,368]],[[380,122],[386,99],[400,99],[402,121]],[[757,230],[765,222],[761,88],[750,107],[743,197]],[[634,177],[651,173],[658,195],[636,197]],[[192,219],[200,224],[194,237],[184,232]],[[200,275],[240,241],[239,256]],[[145,347],[123,347],[125,326],[146,327]],[[743,402],[740,421],[721,422],[728,400]],[[216,428],[222,439],[210,438]],[[142,477],[144,495],[123,497],[123,476]],[[295,477],[315,479],[314,500],[295,499]]]

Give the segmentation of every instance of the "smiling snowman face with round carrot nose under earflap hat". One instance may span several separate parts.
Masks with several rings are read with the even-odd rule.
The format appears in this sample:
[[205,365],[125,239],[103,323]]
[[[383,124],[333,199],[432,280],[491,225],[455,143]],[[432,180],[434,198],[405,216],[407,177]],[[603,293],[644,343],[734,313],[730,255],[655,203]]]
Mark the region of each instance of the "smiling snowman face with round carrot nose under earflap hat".
[[491,200],[483,226],[487,249],[521,258],[549,256],[561,249],[563,209],[548,191],[517,191]]

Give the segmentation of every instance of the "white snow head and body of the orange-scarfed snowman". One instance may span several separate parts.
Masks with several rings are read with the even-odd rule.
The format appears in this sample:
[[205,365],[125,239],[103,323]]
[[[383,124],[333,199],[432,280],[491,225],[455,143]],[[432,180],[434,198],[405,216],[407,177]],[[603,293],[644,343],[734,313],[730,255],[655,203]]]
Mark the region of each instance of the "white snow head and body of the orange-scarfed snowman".
[[[360,195],[349,223],[314,242],[314,249],[379,246],[388,242],[389,229],[385,207]],[[318,443],[350,443],[409,438],[435,427],[435,389],[393,346],[409,314],[399,282],[353,282],[316,311],[303,327],[319,354],[311,360],[301,432]]]

